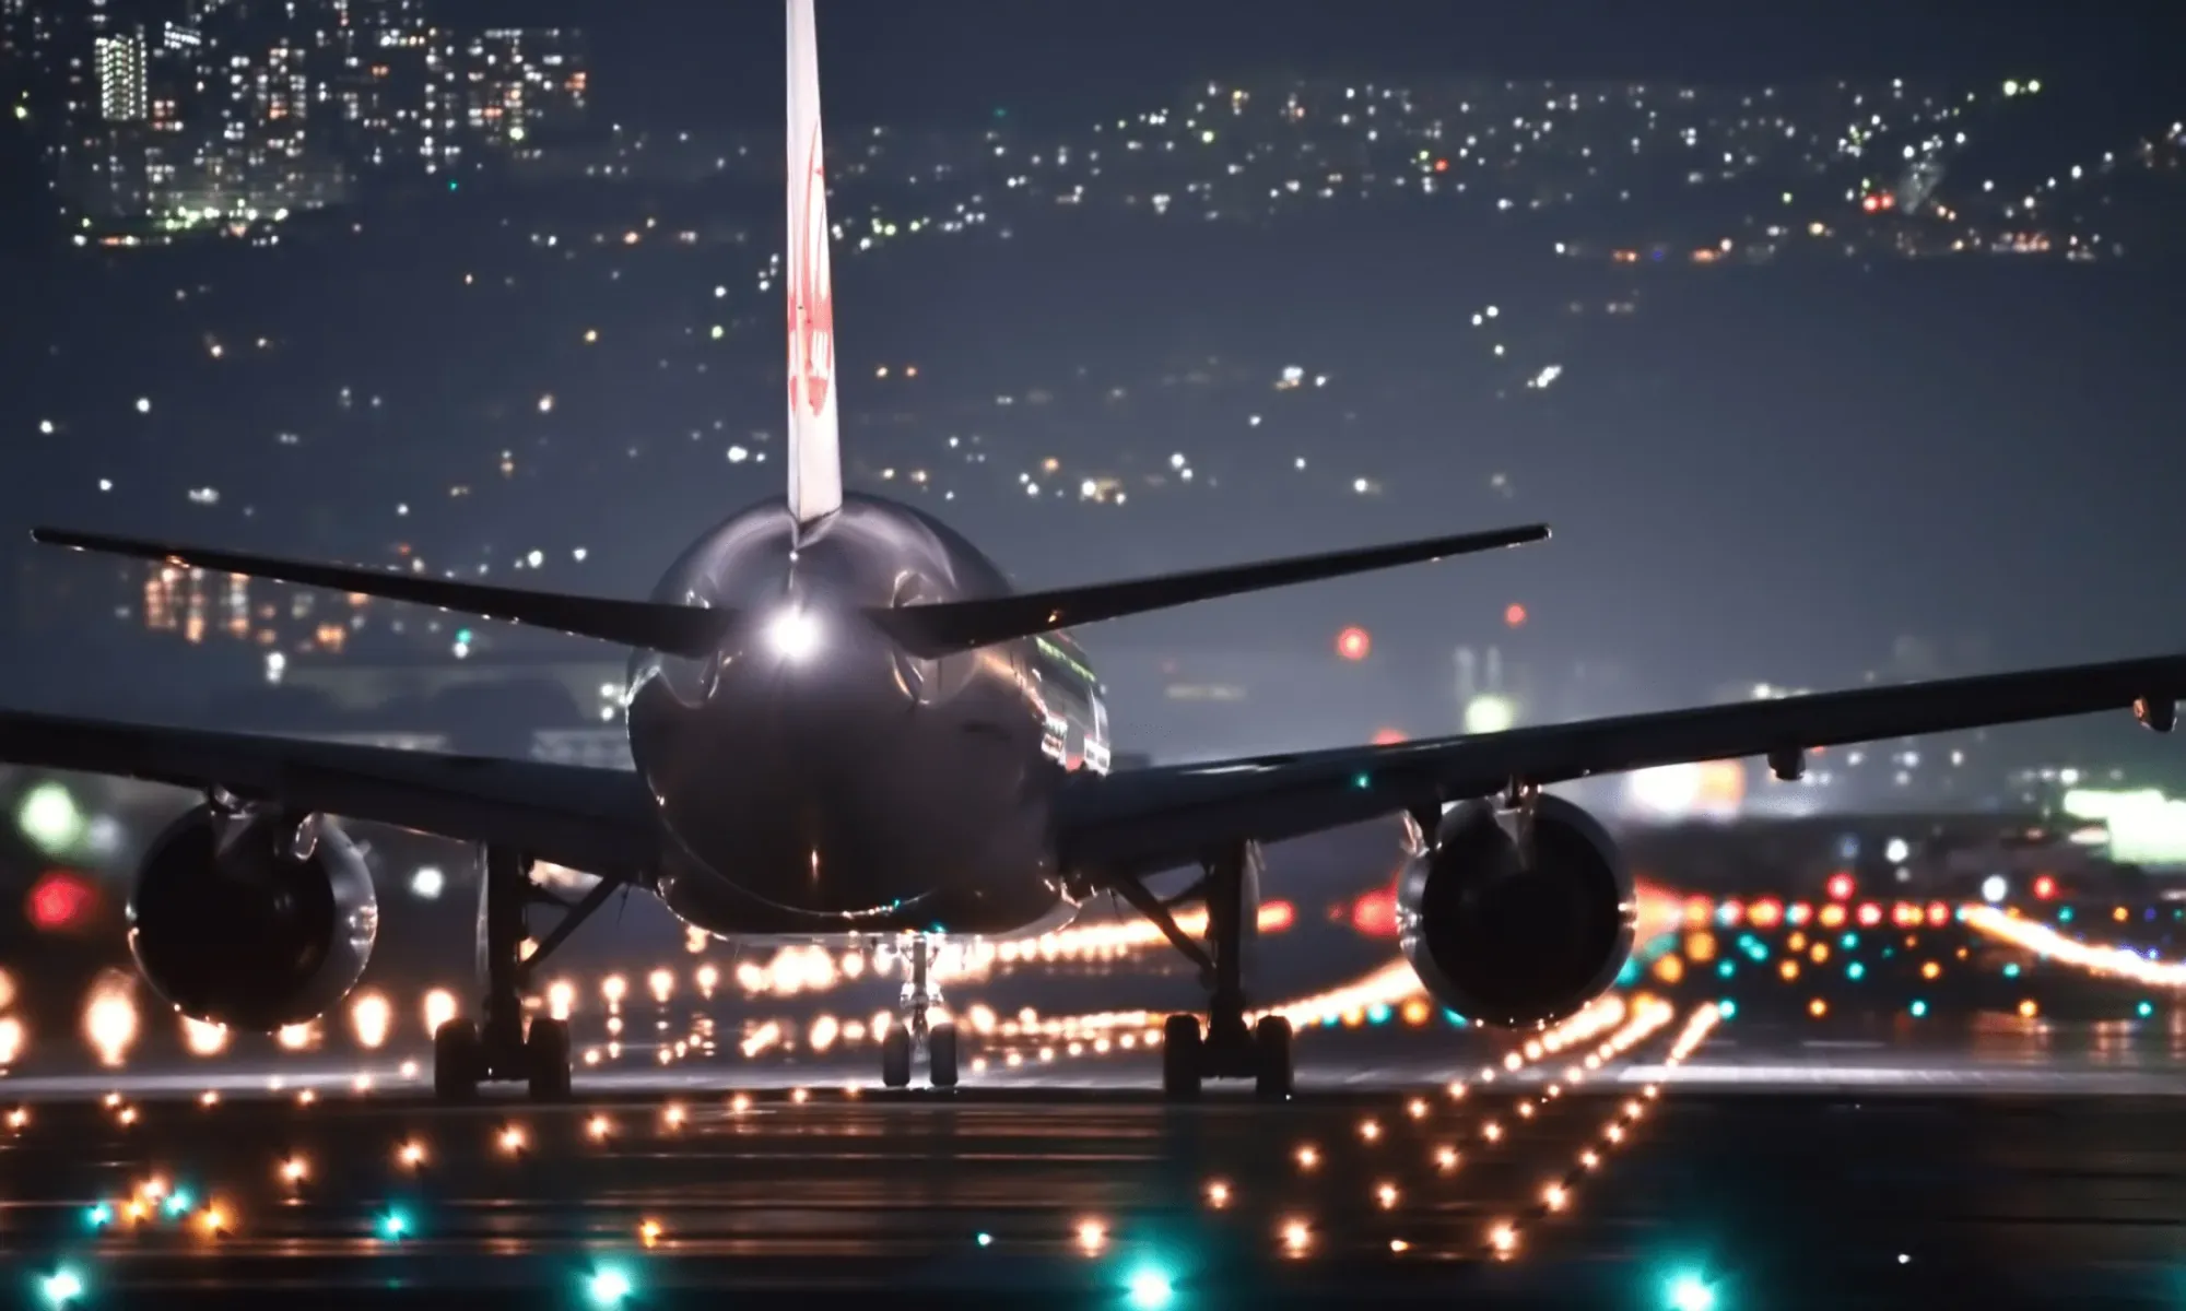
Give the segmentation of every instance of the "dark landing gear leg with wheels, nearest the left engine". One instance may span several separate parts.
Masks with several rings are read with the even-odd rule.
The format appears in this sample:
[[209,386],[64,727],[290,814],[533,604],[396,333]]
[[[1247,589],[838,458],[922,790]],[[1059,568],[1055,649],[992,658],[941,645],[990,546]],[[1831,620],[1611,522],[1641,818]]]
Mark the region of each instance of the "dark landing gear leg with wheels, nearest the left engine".
[[[568,1023],[531,1020],[525,1029],[525,990],[531,972],[577,924],[606,905],[616,883],[601,878],[577,905],[531,883],[531,859],[514,848],[481,848],[479,979],[485,983],[483,1020],[453,1018],[433,1031],[433,1095],[470,1101],[483,1082],[522,1082],[533,1101],[568,1097]],[[562,922],[527,957],[525,911],[562,907]]]

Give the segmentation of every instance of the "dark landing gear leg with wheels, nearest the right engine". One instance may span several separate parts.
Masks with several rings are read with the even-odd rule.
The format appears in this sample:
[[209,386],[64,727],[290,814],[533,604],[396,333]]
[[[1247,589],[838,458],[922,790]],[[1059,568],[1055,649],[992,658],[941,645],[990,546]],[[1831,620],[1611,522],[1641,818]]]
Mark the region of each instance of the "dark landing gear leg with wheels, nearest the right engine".
[[[1132,907],[1200,966],[1207,983],[1207,1027],[1198,1016],[1170,1016],[1161,1027],[1161,1090],[1172,1101],[1200,1095],[1204,1079],[1253,1079],[1253,1092],[1281,1101],[1292,1092],[1290,1020],[1259,1016],[1246,1027],[1244,957],[1259,931],[1259,848],[1237,843],[1207,861],[1189,891],[1161,900],[1143,883],[1117,883]],[[1191,898],[1207,902],[1207,946],[1176,926],[1170,913]]]

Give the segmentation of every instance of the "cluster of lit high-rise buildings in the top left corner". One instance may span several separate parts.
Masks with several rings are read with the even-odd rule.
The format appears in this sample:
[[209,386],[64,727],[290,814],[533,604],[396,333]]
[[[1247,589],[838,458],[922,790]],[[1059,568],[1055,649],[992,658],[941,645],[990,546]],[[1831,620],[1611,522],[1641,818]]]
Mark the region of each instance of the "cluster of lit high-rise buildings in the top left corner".
[[271,243],[581,127],[584,37],[450,31],[424,0],[0,0],[13,118],[74,245]]

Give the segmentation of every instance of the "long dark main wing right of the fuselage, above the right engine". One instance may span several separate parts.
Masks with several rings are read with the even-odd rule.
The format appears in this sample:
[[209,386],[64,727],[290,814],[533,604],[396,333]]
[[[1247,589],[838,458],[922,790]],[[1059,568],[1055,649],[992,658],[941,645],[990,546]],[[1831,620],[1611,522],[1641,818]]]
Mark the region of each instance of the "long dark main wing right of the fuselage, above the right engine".
[[2169,730],[2186,697],[2186,656],[2072,664],[1983,677],[1856,688],[1583,719],[1390,747],[1338,747],[1207,765],[1073,773],[1056,798],[1062,859],[1082,870],[1148,872],[1224,843],[1277,841],[1390,813],[1688,760],[1768,756],[1952,732],[1989,723],[2134,708]]

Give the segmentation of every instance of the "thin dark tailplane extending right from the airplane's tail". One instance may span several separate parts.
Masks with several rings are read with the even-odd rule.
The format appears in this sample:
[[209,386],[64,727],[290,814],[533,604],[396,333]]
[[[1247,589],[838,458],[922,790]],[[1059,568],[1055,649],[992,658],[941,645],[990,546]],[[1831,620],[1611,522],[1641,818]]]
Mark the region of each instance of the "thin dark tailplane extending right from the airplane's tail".
[[1521,524],[1489,533],[1462,533],[1456,538],[1427,538],[1425,542],[1392,542],[1388,546],[1360,546],[1355,551],[1331,551],[1327,555],[1294,555],[1290,559],[1259,559],[1253,564],[1231,564],[1152,579],[1124,579],[1115,583],[1089,583],[1082,588],[1056,588],[1049,592],[1023,592],[1016,597],[995,597],[988,601],[936,601],[931,605],[901,605],[894,610],[868,610],[872,621],[888,636],[896,638],[914,656],[936,658],[953,651],[971,651],[1030,638],[1060,627],[1145,614],[1191,601],[1235,597],[1239,592],[1264,592],[1288,588],[1290,583],[1312,583],[1342,575],[1441,559],[1445,555],[1473,555],[1500,546],[1524,546],[1548,538],[1548,524]]

